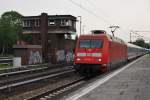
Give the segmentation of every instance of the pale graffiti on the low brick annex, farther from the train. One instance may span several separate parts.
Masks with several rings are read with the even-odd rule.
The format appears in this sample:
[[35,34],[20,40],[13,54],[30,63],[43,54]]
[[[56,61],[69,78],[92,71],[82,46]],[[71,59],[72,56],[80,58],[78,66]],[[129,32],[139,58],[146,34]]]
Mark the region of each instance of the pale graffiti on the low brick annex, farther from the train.
[[30,51],[29,64],[42,63],[42,55],[39,51]]

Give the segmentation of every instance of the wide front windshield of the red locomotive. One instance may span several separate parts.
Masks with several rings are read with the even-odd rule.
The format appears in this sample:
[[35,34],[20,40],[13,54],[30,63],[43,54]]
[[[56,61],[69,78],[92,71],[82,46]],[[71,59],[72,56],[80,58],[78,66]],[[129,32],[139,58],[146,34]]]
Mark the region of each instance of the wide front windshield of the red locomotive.
[[80,48],[102,48],[102,40],[80,40]]

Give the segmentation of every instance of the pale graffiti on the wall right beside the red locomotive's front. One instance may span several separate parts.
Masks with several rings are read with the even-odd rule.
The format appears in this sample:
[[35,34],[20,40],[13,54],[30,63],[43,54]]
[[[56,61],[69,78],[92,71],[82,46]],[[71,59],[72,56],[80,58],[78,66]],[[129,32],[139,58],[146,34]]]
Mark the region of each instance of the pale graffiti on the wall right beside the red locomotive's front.
[[72,62],[74,54],[72,51],[58,50],[57,53],[57,62]]

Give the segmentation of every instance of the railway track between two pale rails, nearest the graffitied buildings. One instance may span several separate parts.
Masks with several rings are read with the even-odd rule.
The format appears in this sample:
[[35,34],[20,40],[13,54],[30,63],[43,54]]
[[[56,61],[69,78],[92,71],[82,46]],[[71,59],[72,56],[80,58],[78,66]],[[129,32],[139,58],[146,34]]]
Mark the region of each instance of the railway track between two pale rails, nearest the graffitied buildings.
[[0,74],[0,91],[5,89],[8,86],[11,88],[11,86],[13,86],[12,84],[16,84],[22,81],[28,81],[30,79],[32,80],[50,74],[59,73],[62,71],[67,71],[70,69],[72,68],[64,67],[64,68],[56,68],[52,70],[51,68],[45,67],[45,68],[38,68],[32,70],[24,70],[19,72],[17,71],[12,73],[3,73]]

